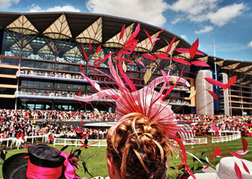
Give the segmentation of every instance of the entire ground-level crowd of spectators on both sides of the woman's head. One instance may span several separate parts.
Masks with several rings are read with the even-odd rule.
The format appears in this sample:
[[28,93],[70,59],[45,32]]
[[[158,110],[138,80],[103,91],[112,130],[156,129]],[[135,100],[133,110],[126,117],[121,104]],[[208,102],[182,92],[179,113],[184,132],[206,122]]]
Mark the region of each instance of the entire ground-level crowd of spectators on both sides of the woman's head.
[[[223,115],[177,115],[180,124],[188,125],[196,135],[211,134],[212,126],[219,131],[241,131],[252,134],[252,116]],[[80,122],[78,124],[67,123]],[[0,138],[19,136],[54,135],[63,137],[101,139],[106,136],[107,129],[85,128],[83,122],[115,121],[115,113],[84,111],[45,111],[45,110],[6,110],[0,109]]]

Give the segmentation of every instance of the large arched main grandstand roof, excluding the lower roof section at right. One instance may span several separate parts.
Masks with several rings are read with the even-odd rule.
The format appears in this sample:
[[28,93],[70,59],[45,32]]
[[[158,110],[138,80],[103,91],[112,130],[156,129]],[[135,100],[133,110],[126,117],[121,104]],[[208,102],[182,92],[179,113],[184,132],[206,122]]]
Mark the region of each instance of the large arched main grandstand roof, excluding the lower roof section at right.
[[[125,28],[132,26],[133,29],[140,23],[141,30],[137,36],[139,41],[144,41],[147,36],[144,29],[154,35],[162,29],[136,20],[125,19],[102,14],[76,13],[76,12],[38,12],[38,13],[14,13],[0,12],[0,26],[15,32],[20,29],[30,28],[30,31],[38,32],[50,38],[76,39],[84,42],[81,38],[91,39],[102,44],[111,42],[115,35],[120,33],[123,25]],[[21,20],[20,20],[21,19]],[[25,20],[24,20],[25,19]],[[18,29],[18,30],[17,30]],[[99,31],[99,32],[97,32]],[[100,33],[100,34],[98,34]],[[60,34],[60,35],[59,35]],[[174,34],[163,31],[159,34],[159,40],[154,49],[159,50],[167,46]],[[181,37],[179,48],[189,48],[190,44]]]

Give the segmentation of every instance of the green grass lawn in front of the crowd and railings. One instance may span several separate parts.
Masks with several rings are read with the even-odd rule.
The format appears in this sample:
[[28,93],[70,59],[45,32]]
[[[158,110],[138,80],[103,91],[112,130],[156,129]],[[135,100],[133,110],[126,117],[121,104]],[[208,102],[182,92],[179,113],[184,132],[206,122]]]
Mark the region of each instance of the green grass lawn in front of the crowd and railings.
[[[248,142],[248,150],[252,151],[252,137],[246,137],[245,138]],[[51,145],[52,147],[54,147],[53,145]],[[61,149],[63,146],[55,146],[55,148]],[[236,140],[236,141],[232,141],[232,142],[225,142],[225,143],[219,143],[219,144],[212,144],[211,141],[209,141],[208,145],[195,145],[195,146],[191,146],[192,148],[186,148],[187,151],[191,152],[192,154],[196,155],[198,158],[202,158],[206,160],[206,157],[208,157],[208,159],[210,159],[214,149],[216,147],[219,147],[221,149],[221,154],[224,155],[228,155],[230,156],[230,154],[228,152],[236,152],[238,150],[242,150],[242,140]],[[80,147],[72,147],[69,146],[64,152],[67,152],[67,150],[71,151],[72,149],[79,149]],[[81,156],[83,158],[83,160],[86,162],[86,166],[89,169],[89,172],[93,175],[93,176],[102,176],[102,177],[106,177],[108,176],[108,171],[107,171],[107,164],[106,164],[106,147],[89,147],[88,149],[85,148],[81,148],[82,152],[81,152]],[[13,154],[16,153],[22,153],[22,152],[27,152],[27,149],[20,149],[20,150],[8,150],[7,156],[6,158],[10,157]],[[202,155],[202,152],[205,152]],[[243,158],[252,161],[252,155],[250,154],[250,152],[248,152],[246,155],[242,156]],[[90,158],[90,159],[89,159]],[[194,162],[193,161],[193,157],[191,157],[190,155],[187,156],[188,158],[188,165],[190,167],[194,167],[197,168],[199,165],[199,162]],[[211,162],[213,165],[216,165],[219,160],[221,158],[219,157],[214,157],[213,161]],[[181,164],[181,160],[180,157],[177,156],[176,153],[173,154],[173,157],[169,157],[168,158],[169,161],[169,165],[173,166],[174,168],[176,168],[176,166],[178,166],[179,164]],[[2,167],[2,166],[1,166]],[[76,170],[77,174],[80,177],[87,177],[87,178],[91,178],[87,173],[84,174],[84,169],[81,166],[79,169]],[[178,171],[178,169],[175,169],[176,172],[180,172]],[[175,172],[170,169],[167,171],[168,174],[170,175],[170,178],[175,178],[176,174]],[[2,170],[0,170],[0,176],[2,176]]]

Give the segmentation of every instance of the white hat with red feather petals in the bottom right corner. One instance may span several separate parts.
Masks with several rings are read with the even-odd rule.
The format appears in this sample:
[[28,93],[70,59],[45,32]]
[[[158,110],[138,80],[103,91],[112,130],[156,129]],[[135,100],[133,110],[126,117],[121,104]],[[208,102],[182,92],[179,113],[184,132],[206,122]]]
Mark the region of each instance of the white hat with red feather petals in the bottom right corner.
[[[216,166],[215,173],[197,173],[196,179],[238,179],[237,173],[242,179],[252,178],[252,162],[237,157],[224,157]],[[193,177],[189,177],[193,179]]]

